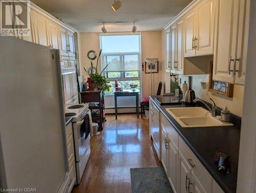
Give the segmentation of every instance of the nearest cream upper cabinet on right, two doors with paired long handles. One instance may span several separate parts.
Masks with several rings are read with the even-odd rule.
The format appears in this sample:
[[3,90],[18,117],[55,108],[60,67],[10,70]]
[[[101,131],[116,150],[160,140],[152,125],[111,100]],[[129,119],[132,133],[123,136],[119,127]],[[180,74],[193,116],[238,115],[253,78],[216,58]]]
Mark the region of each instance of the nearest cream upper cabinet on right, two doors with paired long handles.
[[244,84],[248,10],[246,0],[217,0],[212,77],[215,80]]

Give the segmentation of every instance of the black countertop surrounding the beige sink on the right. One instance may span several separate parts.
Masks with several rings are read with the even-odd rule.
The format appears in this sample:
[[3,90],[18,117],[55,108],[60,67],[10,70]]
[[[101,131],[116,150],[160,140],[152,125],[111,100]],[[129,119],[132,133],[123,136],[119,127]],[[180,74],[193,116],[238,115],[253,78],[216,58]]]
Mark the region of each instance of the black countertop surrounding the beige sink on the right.
[[[176,128],[179,135],[219,186],[225,192],[236,192],[241,124],[184,128],[165,110],[166,108],[186,107],[184,104],[160,105],[154,100],[155,96],[150,96],[150,98],[170,124]],[[231,156],[229,174],[218,171],[218,166],[214,163],[215,154],[218,151]]]

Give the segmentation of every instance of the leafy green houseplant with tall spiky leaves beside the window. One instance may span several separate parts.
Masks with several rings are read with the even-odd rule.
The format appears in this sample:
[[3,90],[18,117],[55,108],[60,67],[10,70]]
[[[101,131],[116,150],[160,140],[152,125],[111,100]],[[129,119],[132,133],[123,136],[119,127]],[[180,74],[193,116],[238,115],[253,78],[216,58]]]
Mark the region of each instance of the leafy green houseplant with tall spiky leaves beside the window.
[[[111,88],[111,85],[109,85],[110,82],[107,81],[104,76],[102,76],[102,73],[104,72],[106,67],[109,66],[110,63],[108,63],[108,65],[106,65],[105,68],[99,74],[98,73],[98,61],[99,61],[100,55],[101,55],[101,50],[100,50],[99,56],[97,58],[96,70],[95,71],[91,70],[90,72],[88,72],[86,70],[86,68],[83,67],[83,69],[84,69],[84,71],[86,71],[89,74],[89,76],[91,78],[93,90],[101,89],[103,91],[110,91],[110,88]],[[91,60],[91,69],[93,69],[93,61],[92,60]]]

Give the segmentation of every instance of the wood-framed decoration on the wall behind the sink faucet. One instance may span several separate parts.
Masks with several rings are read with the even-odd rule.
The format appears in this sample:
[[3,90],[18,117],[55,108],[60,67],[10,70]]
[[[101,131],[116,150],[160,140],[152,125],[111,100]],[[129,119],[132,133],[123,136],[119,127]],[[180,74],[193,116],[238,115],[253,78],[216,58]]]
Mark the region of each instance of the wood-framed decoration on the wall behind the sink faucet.
[[210,61],[209,92],[215,95],[231,98],[233,97],[234,84],[212,80],[213,61]]

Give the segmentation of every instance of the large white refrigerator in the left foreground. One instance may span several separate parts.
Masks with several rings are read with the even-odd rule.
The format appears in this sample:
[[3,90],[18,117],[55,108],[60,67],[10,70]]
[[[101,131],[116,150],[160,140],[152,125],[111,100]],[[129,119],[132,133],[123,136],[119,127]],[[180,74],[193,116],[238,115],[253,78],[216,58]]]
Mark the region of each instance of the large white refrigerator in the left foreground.
[[0,188],[66,192],[58,50],[0,37]]

